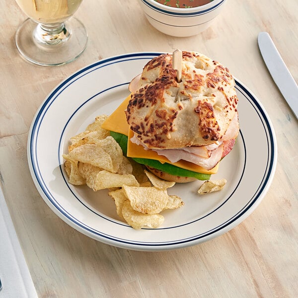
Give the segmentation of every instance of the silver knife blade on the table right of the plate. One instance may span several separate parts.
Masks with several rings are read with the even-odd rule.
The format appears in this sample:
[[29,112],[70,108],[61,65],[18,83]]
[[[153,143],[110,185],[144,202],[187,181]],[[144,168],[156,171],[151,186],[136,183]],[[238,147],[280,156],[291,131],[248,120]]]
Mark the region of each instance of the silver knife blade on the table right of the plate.
[[258,35],[259,49],[263,60],[279,90],[298,119],[298,85],[288,70],[269,33]]

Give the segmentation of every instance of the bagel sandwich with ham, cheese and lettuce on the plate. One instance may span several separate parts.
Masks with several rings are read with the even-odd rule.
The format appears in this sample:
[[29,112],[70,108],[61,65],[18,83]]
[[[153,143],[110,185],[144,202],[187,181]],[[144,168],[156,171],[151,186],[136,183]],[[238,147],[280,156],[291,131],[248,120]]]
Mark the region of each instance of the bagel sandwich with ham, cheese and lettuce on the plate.
[[217,173],[239,132],[235,81],[227,68],[183,51],[178,81],[172,54],[162,54],[129,89],[102,126],[128,157],[168,181],[208,180]]

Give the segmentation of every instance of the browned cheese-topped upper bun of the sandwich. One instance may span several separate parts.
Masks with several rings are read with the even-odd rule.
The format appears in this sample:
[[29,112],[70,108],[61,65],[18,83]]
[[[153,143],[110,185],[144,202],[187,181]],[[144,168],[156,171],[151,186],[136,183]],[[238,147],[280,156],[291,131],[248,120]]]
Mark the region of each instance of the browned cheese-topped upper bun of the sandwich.
[[172,68],[172,55],[157,56],[134,85],[126,118],[135,136],[149,149],[223,142],[230,123],[234,132],[229,130],[228,139],[237,137],[234,79],[227,68],[205,55],[182,52],[181,82]]

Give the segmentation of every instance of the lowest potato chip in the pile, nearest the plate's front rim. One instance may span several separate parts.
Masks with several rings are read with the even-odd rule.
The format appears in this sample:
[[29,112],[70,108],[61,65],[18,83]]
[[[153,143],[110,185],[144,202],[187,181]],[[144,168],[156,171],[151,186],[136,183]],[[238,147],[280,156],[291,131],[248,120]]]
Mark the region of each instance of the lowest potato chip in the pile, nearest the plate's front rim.
[[160,214],[143,214],[134,210],[128,200],[123,203],[122,216],[125,221],[135,229],[140,229],[145,226],[157,228],[164,221],[164,217]]

